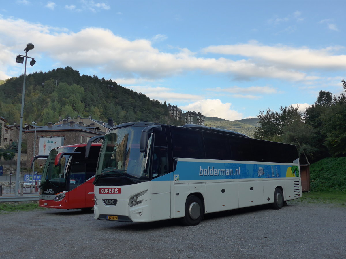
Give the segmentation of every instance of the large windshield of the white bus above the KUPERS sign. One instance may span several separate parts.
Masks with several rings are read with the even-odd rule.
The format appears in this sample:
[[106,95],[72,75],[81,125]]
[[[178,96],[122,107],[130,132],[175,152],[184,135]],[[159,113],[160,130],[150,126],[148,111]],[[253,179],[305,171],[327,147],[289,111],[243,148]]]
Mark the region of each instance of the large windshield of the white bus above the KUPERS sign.
[[[147,155],[139,151],[143,127],[119,128],[104,136],[97,178],[113,178],[118,184],[133,184],[149,180]],[[150,146],[151,136],[148,140]],[[128,181],[124,182],[124,178]]]

